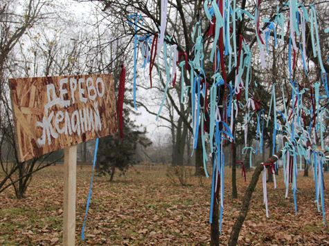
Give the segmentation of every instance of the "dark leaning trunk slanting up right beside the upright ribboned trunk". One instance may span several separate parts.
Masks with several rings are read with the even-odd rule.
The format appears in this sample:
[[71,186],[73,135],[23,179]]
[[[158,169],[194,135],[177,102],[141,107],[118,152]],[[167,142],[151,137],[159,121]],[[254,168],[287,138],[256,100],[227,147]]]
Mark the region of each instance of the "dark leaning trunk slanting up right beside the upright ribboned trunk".
[[[281,158],[282,151],[279,151],[278,153],[276,153],[276,155],[278,156],[278,158]],[[276,160],[277,160],[276,157],[272,156],[271,158],[267,159],[265,164],[273,163]],[[256,169],[254,171],[254,174],[251,178],[249,186],[248,186],[247,190],[244,192],[244,198],[242,200],[240,213],[239,213],[238,218],[235,220],[235,223],[232,227],[231,236],[229,238],[229,245],[230,246],[235,246],[235,245],[238,244],[238,237],[239,237],[239,234],[240,234],[241,227],[244,223],[244,220],[246,219],[247,214],[248,214],[252,193],[254,192],[254,190],[256,188],[258,178],[260,176],[260,173],[263,171],[263,169],[264,169],[263,165],[258,164],[258,166],[256,167]]]

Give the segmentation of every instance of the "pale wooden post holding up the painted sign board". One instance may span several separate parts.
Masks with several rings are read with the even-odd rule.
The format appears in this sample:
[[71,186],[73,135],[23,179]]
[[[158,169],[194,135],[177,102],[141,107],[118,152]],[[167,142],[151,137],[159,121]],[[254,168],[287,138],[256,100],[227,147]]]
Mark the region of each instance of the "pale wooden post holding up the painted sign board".
[[77,145],[64,149],[63,245],[75,245],[75,193]]

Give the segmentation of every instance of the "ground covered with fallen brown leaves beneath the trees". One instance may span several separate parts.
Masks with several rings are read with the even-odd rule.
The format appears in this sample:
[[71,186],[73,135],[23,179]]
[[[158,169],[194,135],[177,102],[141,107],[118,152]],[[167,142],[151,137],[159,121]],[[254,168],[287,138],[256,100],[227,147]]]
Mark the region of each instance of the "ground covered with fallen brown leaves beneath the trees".
[[[181,187],[170,182],[166,166],[144,165],[116,176],[112,183],[96,177],[86,228],[80,240],[83,215],[91,176],[90,167],[78,167],[76,238],[78,245],[206,245],[209,243],[210,180],[188,178]],[[193,171],[193,169],[192,169]],[[226,169],[224,220],[220,241],[226,245],[240,209],[247,182],[238,169],[237,200],[231,198],[231,169]],[[284,198],[282,173],[278,189],[268,184],[269,218],[265,217],[261,179],[253,196],[240,245],[329,245],[329,230],[314,204],[314,182],[299,173],[294,213],[292,194]],[[328,173],[329,174],[329,173]],[[326,187],[329,175],[326,174]],[[17,200],[11,189],[0,194],[0,245],[61,245],[63,168],[49,167],[33,177],[24,199]],[[326,206],[329,208],[329,192]],[[326,216],[329,220],[329,216]]]

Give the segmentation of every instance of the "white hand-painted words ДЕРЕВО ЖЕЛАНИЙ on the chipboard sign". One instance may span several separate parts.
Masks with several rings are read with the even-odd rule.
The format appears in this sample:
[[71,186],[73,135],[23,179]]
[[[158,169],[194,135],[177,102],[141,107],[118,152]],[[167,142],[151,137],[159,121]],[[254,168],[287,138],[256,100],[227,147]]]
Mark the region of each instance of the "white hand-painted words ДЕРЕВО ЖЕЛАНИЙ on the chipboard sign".
[[[82,88],[82,84],[86,83],[87,91]],[[69,87],[71,100],[65,100],[64,97],[69,96],[69,91],[64,88]],[[68,86],[69,85],[69,86]],[[44,106],[44,117],[42,122],[37,122],[37,127],[42,127],[42,136],[37,139],[39,146],[46,144],[46,138],[48,144],[51,144],[51,137],[58,138],[59,134],[71,135],[72,133],[85,133],[86,131],[100,131],[102,124],[100,121],[100,113],[98,111],[98,102],[94,102],[94,108],[82,108],[75,110],[72,113],[68,111],[51,112],[48,115],[48,109],[52,106],[60,106],[60,108],[66,108],[75,104],[75,91],[78,92],[78,100],[85,104],[87,100],[95,101],[96,97],[103,97],[105,94],[105,84],[101,77],[97,77],[96,85],[94,79],[88,77],[75,79],[74,77],[60,79],[59,97],[56,95],[56,89],[54,84],[47,84],[47,104]],[[87,93],[87,95],[86,95]],[[86,97],[87,96],[87,97]],[[93,114],[94,113],[94,114]],[[55,124],[52,125],[53,118],[55,117]],[[64,126],[60,126],[60,123],[64,121]]]

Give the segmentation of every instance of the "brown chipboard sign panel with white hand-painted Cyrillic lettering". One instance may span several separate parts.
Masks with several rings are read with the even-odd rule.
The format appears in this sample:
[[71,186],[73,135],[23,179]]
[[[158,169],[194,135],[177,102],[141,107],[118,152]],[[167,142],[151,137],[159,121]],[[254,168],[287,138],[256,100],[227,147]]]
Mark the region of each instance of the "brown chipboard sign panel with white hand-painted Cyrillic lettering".
[[9,79],[21,162],[116,132],[112,75]]

